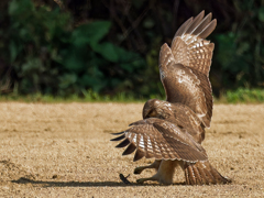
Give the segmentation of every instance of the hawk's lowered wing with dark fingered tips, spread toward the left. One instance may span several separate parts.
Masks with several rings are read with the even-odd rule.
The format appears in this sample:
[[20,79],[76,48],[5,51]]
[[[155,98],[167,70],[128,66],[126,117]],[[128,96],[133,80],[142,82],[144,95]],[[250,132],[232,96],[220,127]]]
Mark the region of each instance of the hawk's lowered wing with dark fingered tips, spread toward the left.
[[179,160],[186,162],[206,161],[206,151],[200,144],[175,124],[150,118],[131,124],[132,128],[112,141],[123,140],[117,147],[127,147],[123,155],[133,153],[134,162],[142,157],[156,160]]

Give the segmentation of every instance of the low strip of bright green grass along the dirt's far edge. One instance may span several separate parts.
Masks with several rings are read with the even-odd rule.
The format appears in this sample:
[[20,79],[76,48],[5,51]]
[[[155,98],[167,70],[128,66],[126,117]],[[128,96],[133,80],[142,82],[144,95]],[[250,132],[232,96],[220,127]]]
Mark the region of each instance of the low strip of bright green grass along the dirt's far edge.
[[[82,91],[82,97],[72,95],[69,97],[54,97],[51,95],[26,95],[21,96],[15,92],[0,96],[0,101],[22,101],[22,102],[144,102],[148,99],[157,98],[165,100],[161,95],[151,95],[150,98],[135,97],[131,94],[119,92],[114,96],[101,96],[92,90]],[[262,89],[238,89],[221,94],[220,98],[213,98],[216,103],[261,103],[264,102],[264,90]]]

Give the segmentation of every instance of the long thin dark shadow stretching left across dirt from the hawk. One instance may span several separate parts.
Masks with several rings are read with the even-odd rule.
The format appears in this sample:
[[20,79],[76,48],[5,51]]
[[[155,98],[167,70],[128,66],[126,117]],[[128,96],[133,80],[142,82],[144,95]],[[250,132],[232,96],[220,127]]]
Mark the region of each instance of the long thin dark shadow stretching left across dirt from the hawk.
[[[29,179],[25,177],[20,177],[16,180],[12,180],[15,184],[32,184],[40,185],[42,187],[99,187],[99,186],[108,186],[108,187],[129,187],[129,186],[161,186],[158,184],[124,184],[122,182],[53,182],[53,180],[35,180]],[[177,183],[173,185],[184,185],[184,183]]]

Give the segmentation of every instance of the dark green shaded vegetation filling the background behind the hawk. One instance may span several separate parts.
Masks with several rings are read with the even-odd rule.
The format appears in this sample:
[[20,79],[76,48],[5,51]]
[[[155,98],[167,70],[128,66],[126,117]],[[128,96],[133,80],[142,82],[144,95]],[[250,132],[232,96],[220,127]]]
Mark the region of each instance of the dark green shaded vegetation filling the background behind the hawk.
[[0,91],[163,96],[160,47],[201,10],[218,20],[215,96],[263,88],[263,0],[1,0]]

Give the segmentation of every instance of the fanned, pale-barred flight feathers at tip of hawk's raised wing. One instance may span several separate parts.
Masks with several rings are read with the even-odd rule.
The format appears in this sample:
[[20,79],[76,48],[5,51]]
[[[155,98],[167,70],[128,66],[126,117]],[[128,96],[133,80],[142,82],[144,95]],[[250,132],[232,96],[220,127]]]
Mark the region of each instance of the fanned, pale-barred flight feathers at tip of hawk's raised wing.
[[217,20],[211,21],[211,13],[205,18],[204,15],[205,11],[194,20],[190,18],[178,29],[172,43],[172,52],[175,63],[208,76],[215,44],[205,38],[216,29]]

